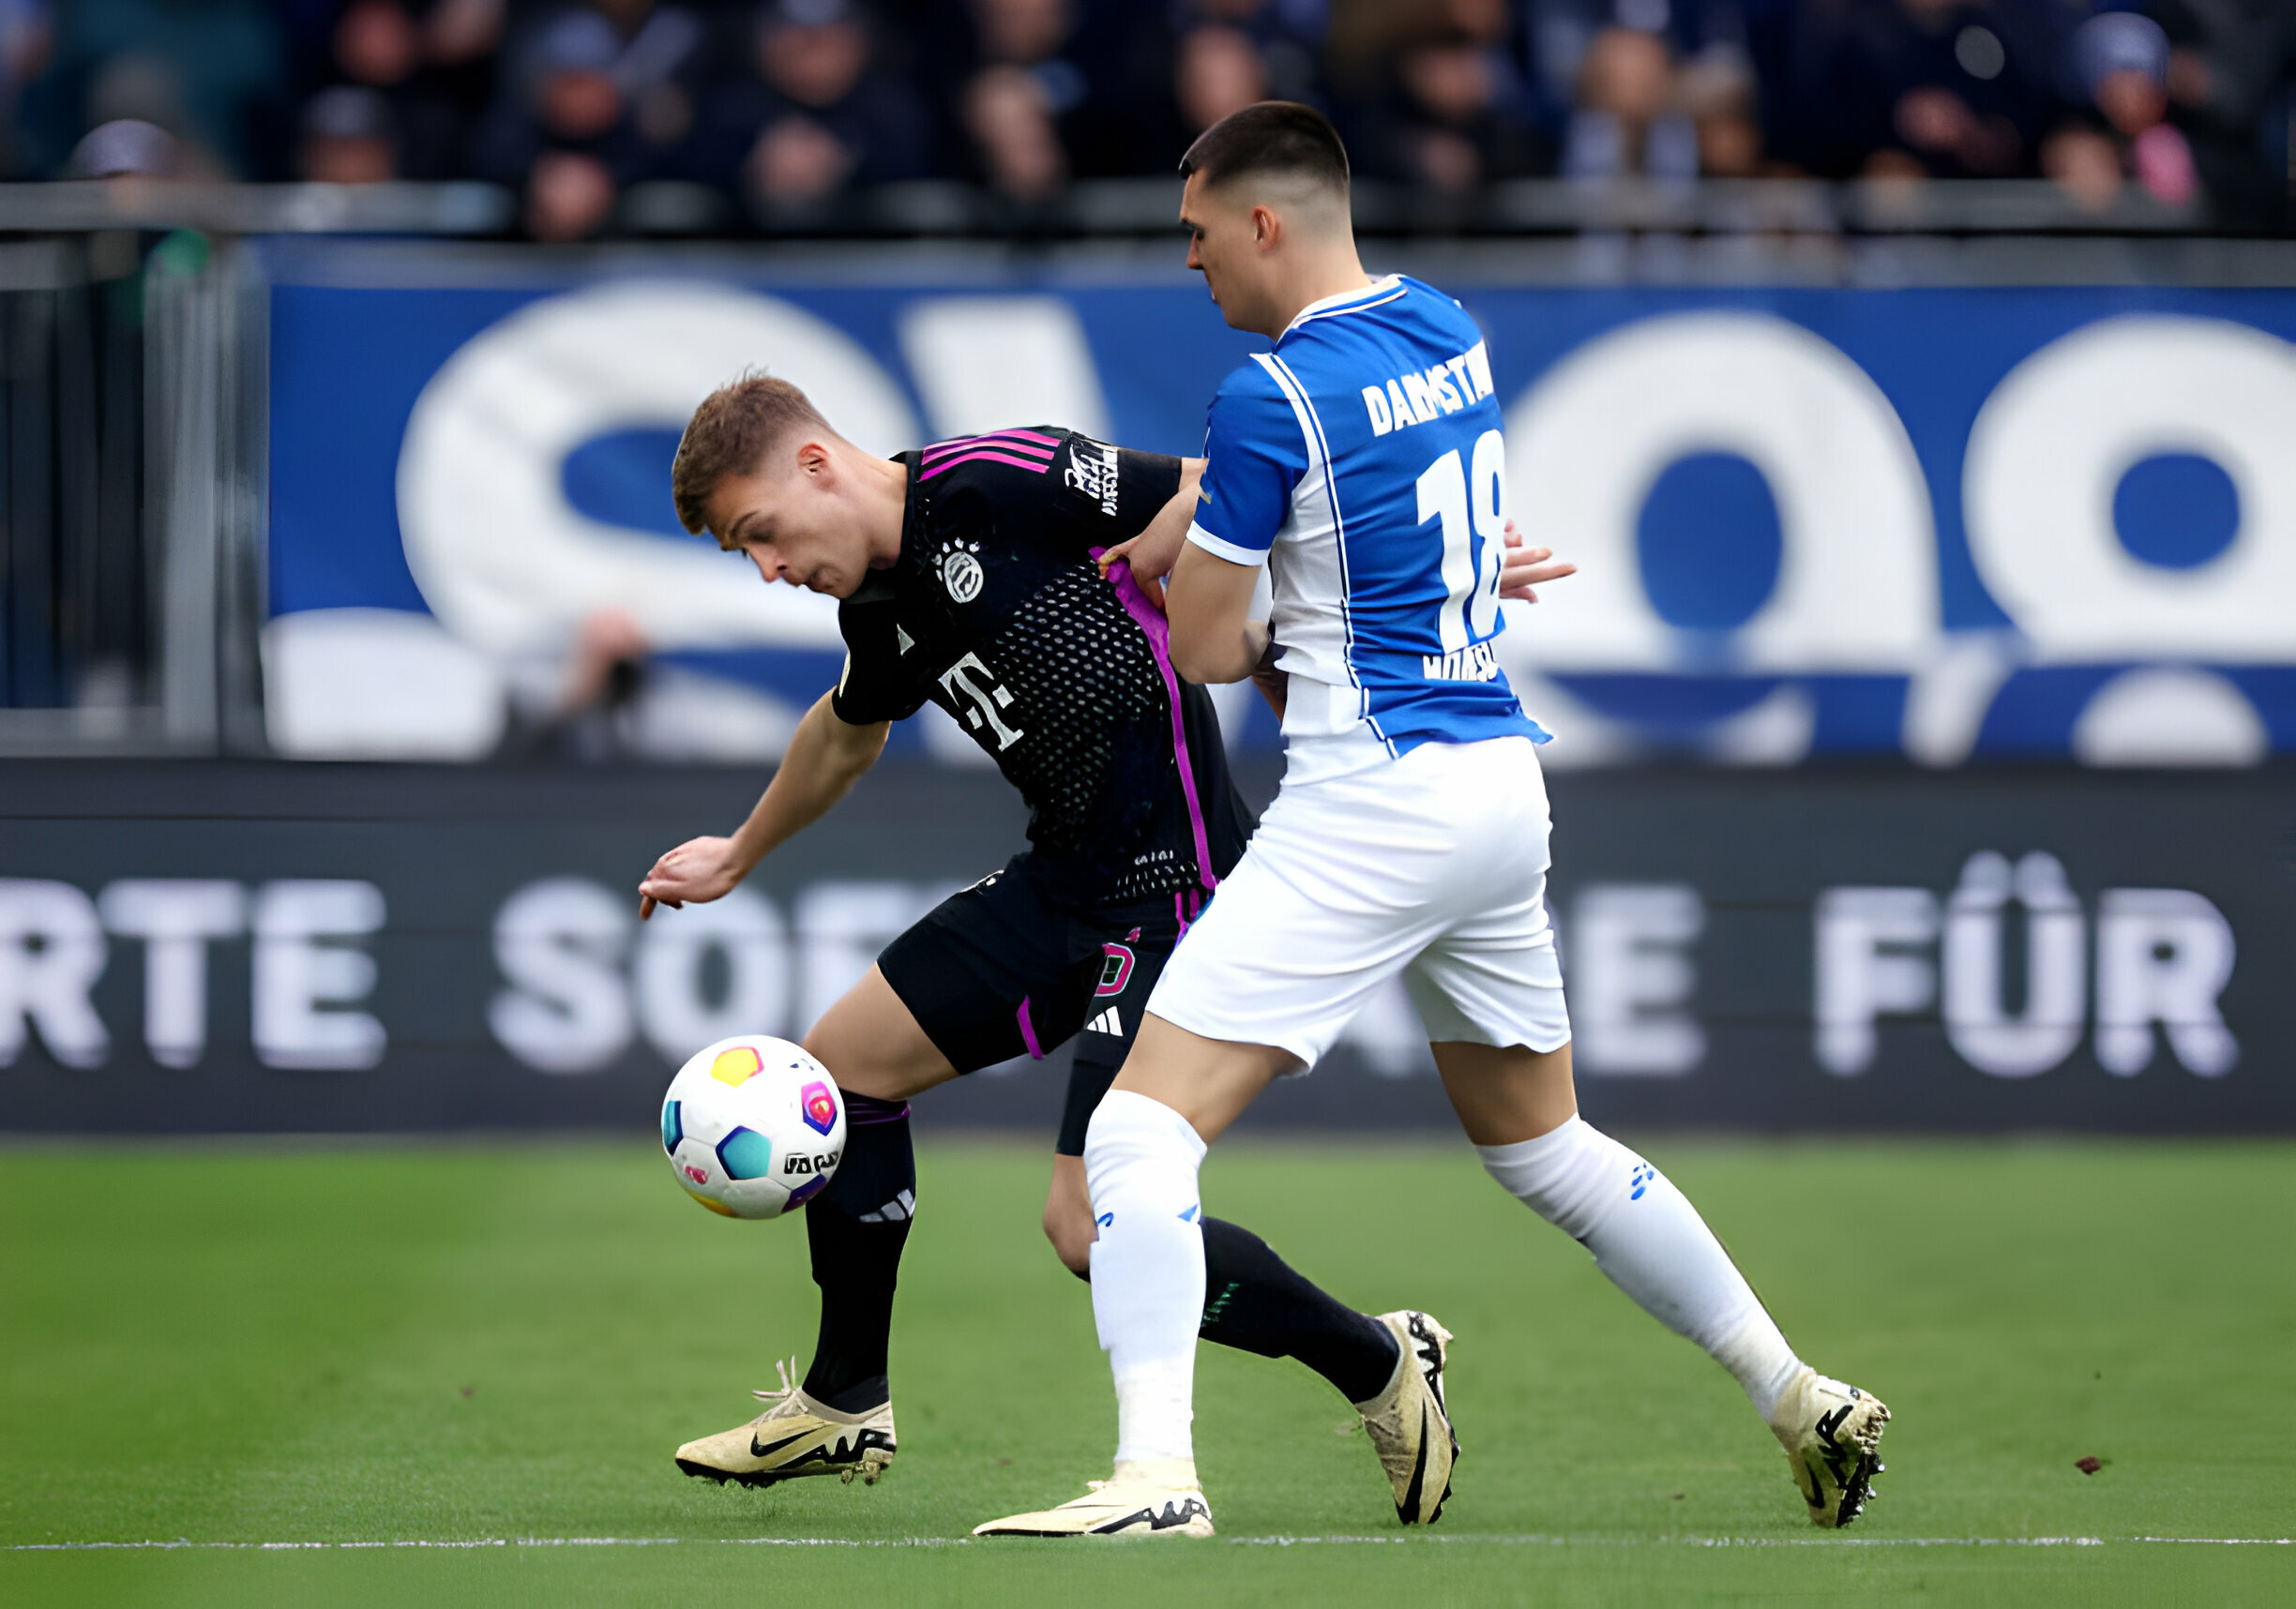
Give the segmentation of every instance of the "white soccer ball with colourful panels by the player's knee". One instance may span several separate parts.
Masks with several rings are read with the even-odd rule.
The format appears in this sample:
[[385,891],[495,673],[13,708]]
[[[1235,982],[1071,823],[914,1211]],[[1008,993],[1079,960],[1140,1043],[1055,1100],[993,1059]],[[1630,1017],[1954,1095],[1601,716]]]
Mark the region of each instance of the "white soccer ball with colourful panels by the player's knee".
[[762,1033],[696,1051],[661,1097],[680,1189],[728,1219],[778,1219],[829,1187],[845,1097],[804,1049]]

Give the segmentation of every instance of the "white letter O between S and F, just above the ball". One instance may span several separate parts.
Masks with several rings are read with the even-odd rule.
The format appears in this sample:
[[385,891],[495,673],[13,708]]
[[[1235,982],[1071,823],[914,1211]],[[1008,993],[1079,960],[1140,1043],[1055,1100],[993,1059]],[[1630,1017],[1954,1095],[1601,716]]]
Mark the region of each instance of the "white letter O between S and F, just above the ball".
[[[709,998],[703,962],[721,955],[726,994]],[[638,934],[638,1026],[675,1067],[735,1033],[785,1033],[790,939],[781,911],[755,888],[723,900],[654,911]]]

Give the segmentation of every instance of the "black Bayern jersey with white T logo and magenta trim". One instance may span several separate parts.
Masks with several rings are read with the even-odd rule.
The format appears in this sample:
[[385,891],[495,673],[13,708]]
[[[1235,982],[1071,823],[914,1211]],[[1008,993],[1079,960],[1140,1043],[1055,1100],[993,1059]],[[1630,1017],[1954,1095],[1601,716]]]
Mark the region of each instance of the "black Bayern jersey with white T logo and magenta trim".
[[932,700],[1029,801],[1045,891],[1075,907],[1210,891],[1242,854],[1219,718],[1164,615],[1093,558],[1180,489],[1180,461],[1052,425],[905,452],[900,560],[838,608],[840,721]]

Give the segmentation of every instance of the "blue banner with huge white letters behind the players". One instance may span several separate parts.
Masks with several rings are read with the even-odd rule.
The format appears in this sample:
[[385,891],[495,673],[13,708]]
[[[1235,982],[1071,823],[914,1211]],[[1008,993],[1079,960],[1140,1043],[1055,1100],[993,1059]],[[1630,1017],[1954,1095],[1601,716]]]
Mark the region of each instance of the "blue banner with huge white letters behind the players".
[[[301,755],[494,753],[602,615],[650,654],[641,753],[769,755],[833,608],[677,528],[709,388],[771,370],[882,452],[1022,420],[1194,452],[1263,344],[1180,278],[276,278],[266,670]],[[1502,638],[1552,764],[2296,748],[2296,294],[1446,289],[1508,514],[1582,565]]]

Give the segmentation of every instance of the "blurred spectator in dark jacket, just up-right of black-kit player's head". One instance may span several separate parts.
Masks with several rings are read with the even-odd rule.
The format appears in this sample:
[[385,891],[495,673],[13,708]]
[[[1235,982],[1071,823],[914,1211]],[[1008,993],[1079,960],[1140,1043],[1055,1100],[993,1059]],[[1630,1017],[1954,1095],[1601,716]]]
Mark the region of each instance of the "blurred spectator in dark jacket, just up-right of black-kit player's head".
[[852,0],[771,0],[748,71],[703,108],[696,170],[751,207],[801,207],[928,172],[921,99],[877,64],[875,18]]

